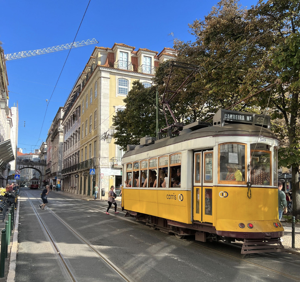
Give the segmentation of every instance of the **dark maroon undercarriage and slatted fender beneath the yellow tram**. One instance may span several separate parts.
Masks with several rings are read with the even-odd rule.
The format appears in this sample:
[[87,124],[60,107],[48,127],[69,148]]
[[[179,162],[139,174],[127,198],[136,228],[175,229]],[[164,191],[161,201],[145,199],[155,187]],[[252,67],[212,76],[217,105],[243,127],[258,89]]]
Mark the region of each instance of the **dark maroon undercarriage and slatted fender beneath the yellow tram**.
[[[273,232],[278,234],[260,233],[262,238],[235,238],[218,235],[218,233],[222,232],[216,231],[215,227],[211,224],[198,222],[194,222],[193,224],[184,224],[133,211],[127,211],[125,216],[134,217],[138,221],[143,221],[146,225],[150,226],[151,229],[158,229],[160,232],[166,234],[174,234],[179,239],[184,238],[186,235],[192,235],[195,236],[196,241],[200,242],[223,241],[226,243],[232,243],[240,241],[243,244],[241,254],[284,252],[284,247],[280,241],[280,237],[283,236],[283,234],[279,234],[280,232]],[[235,232],[231,232],[231,235],[233,235],[233,233]],[[278,238],[273,237],[276,235],[278,235]],[[247,237],[246,233],[243,233],[243,236]]]

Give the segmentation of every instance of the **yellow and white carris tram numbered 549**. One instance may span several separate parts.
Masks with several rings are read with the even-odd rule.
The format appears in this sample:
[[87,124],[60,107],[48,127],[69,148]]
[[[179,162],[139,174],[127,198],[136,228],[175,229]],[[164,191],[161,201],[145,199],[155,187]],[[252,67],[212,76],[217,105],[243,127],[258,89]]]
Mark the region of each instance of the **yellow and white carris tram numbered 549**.
[[166,233],[243,241],[242,253],[283,249],[278,139],[270,117],[219,110],[211,125],[145,137],[123,158],[122,207]]

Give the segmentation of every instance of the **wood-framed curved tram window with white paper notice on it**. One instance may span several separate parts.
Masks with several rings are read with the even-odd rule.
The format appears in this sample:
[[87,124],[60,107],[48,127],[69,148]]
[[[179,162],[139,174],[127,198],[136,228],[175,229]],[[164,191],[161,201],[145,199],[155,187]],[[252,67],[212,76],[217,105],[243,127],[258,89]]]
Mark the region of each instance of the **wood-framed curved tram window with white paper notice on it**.
[[219,180],[245,180],[245,145],[227,143],[219,145]]

